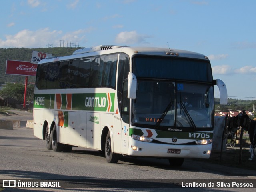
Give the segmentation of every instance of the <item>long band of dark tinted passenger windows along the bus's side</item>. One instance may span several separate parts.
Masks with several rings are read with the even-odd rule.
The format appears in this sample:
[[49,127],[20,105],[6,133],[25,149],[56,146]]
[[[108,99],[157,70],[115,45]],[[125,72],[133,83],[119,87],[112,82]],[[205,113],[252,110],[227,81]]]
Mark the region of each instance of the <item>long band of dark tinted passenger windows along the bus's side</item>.
[[118,54],[38,65],[38,89],[116,87]]

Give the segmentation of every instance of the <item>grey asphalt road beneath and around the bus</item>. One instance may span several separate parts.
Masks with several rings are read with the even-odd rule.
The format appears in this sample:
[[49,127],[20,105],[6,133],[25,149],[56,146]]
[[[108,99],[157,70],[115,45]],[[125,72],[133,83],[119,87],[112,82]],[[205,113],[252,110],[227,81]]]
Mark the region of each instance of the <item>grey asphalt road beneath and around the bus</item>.
[[[255,191],[256,171],[229,168],[186,159],[180,168],[168,160],[121,157],[109,164],[98,151],[73,148],[47,150],[31,128],[0,130],[0,182],[3,180],[57,181],[64,188],[5,188],[7,191]],[[63,179],[68,179],[64,182]],[[96,182],[96,179],[98,182]],[[90,181],[90,183],[88,183]],[[229,182],[253,182],[254,188],[222,188]],[[186,183],[219,182],[218,188],[182,187]],[[0,191],[1,191],[0,184]],[[131,188],[132,187],[132,188]]]

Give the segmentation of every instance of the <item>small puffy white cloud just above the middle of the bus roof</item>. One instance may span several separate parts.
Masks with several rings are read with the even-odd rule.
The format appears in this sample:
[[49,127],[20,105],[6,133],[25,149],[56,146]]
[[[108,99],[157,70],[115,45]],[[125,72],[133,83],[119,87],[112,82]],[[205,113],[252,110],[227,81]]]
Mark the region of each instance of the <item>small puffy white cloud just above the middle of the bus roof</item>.
[[124,44],[147,43],[145,39],[150,37],[138,34],[136,31],[123,31],[117,34],[115,42]]

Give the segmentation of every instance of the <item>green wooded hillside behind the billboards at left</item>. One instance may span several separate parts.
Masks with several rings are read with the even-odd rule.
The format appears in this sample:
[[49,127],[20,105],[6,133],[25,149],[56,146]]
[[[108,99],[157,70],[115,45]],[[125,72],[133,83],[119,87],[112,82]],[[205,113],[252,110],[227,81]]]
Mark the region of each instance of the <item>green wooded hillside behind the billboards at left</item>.
[[[6,75],[6,60],[18,60],[18,61],[28,61],[30,62],[32,52],[39,51],[50,53],[52,56],[66,56],[71,55],[78,48],[67,48],[67,47],[58,47],[58,48],[0,48],[0,84],[6,82],[16,82],[24,83],[25,76],[19,75]],[[30,76],[28,78],[29,82],[35,82],[35,77]]]

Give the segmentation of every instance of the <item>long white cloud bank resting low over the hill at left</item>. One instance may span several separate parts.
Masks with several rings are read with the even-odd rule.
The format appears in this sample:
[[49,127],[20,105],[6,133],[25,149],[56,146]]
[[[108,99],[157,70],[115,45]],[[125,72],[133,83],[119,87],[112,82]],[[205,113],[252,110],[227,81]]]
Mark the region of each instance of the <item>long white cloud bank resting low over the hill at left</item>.
[[90,30],[92,30],[92,28],[80,29],[63,34],[61,30],[51,31],[49,28],[42,28],[36,31],[25,29],[14,35],[6,35],[6,40],[0,39],[0,47],[39,48],[46,47],[47,44],[52,43],[54,46],[59,46],[60,40],[81,43],[85,41],[85,33],[90,32]]

